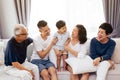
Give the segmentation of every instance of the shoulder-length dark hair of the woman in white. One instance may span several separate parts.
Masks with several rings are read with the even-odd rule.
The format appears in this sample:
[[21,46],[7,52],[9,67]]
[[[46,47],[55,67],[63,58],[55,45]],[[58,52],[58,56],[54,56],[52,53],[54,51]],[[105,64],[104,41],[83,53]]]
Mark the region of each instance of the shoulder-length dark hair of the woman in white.
[[78,28],[78,39],[80,41],[80,44],[84,44],[87,41],[87,31],[81,24],[76,25],[76,27]]

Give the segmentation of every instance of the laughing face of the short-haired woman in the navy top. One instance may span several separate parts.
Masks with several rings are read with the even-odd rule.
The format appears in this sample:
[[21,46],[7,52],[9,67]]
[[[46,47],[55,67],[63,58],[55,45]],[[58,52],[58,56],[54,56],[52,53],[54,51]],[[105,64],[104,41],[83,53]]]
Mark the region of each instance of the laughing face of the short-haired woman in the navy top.
[[100,42],[106,41],[108,38],[108,35],[106,34],[105,30],[102,28],[99,28],[98,34],[97,34],[97,40]]

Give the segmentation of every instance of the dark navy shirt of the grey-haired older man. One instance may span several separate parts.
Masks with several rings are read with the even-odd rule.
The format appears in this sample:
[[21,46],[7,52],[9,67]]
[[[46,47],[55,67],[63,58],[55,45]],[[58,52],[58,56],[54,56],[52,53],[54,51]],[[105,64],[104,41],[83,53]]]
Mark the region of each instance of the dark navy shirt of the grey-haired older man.
[[22,64],[26,59],[27,46],[32,43],[31,38],[27,38],[21,43],[18,43],[14,37],[12,37],[5,50],[5,65],[12,65],[12,62],[19,62]]

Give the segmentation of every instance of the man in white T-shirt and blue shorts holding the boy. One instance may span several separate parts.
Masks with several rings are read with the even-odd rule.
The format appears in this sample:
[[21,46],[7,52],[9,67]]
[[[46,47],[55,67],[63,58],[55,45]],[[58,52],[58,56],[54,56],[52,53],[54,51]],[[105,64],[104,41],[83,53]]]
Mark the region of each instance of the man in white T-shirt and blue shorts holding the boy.
[[58,80],[54,64],[50,62],[48,58],[49,52],[53,45],[57,42],[57,39],[54,38],[51,41],[49,37],[50,29],[46,21],[39,21],[37,26],[41,34],[34,38],[34,50],[31,62],[38,66],[43,80]]

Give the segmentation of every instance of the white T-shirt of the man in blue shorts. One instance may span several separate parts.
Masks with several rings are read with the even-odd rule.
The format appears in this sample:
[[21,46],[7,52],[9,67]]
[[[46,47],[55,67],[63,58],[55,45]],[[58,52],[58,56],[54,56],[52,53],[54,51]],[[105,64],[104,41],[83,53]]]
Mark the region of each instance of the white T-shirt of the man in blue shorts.
[[[36,36],[33,39],[33,54],[31,56],[32,59],[41,59],[40,56],[38,55],[37,51],[45,50],[51,42],[51,38],[48,37],[46,40],[43,40],[41,35]],[[48,53],[49,54],[49,53]],[[48,54],[43,58],[44,60],[48,60]]]

